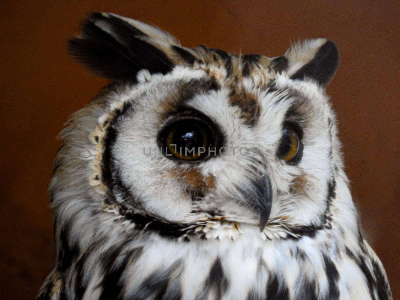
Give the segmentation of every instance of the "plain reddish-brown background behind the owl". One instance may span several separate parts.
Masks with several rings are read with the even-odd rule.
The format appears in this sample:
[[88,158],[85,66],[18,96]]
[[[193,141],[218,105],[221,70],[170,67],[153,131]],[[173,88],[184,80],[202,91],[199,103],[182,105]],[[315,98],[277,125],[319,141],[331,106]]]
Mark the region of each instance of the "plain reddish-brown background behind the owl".
[[156,24],[185,46],[282,55],[290,41],[327,37],[340,50],[328,87],[366,237],[400,296],[398,1],[0,2],[0,295],[32,299],[55,260],[47,185],[67,117],[106,83],[74,64],[65,41],[86,12]]

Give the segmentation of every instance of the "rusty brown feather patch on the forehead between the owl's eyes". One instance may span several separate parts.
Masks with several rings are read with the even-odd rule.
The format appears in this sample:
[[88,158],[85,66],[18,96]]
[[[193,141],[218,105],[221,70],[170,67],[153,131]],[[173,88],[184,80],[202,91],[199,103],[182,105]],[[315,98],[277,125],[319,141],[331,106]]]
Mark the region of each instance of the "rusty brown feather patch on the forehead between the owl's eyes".
[[255,94],[241,91],[230,96],[230,103],[241,110],[240,118],[244,124],[254,126],[260,117],[260,105]]

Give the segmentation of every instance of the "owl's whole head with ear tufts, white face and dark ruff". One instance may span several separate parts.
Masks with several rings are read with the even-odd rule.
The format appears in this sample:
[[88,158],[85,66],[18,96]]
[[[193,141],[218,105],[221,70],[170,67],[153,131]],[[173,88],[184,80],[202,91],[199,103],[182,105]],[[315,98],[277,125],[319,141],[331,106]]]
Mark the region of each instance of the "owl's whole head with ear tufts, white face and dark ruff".
[[93,13],[68,45],[112,83],[62,132],[50,186],[56,219],[307,231],[329,218],[342,172],[324,92],[338,66],[330,40],[275,58],[233,55]]

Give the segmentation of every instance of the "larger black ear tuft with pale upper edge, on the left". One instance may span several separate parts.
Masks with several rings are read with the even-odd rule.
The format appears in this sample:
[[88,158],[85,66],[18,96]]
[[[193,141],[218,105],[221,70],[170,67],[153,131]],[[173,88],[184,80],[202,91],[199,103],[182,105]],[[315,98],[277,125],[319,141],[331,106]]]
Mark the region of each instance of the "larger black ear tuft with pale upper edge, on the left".
[[134,79],[139,70],[166,74],[174,63],[164,52],[177,40],[162,30],[115,14],[94,12],[68,41],[68,53],[94,75]]

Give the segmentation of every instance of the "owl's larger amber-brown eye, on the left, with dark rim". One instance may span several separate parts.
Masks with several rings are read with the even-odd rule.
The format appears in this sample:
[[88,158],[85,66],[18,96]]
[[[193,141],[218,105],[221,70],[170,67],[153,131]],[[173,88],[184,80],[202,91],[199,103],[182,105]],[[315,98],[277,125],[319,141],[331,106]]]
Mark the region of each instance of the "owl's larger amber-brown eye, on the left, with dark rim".
[[159,145],[168,157],[195,161],[208,156],[216,146],[212,124],[198,115],[181,115],[164,127],[159,134]]

